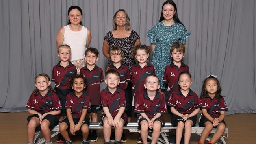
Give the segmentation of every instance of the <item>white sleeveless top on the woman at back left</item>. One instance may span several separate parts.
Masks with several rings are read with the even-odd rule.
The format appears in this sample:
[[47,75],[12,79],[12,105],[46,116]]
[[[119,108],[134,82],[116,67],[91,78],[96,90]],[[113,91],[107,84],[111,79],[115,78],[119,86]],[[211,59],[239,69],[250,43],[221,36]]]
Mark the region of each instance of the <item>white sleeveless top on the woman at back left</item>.
[[63,26],[64,37],[63,44],[67,44],[71,48],[70,61],[77,61],[84,59],[87,41],[87,28],[82,26],[80,31],[72,31],[69,25]]

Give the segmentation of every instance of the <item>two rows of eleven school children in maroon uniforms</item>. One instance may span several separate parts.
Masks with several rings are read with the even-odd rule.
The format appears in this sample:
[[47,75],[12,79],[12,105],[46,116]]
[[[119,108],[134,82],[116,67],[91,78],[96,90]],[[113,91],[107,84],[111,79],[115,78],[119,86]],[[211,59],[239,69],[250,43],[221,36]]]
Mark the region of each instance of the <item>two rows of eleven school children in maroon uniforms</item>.
[[[96,129],[89,130],[89,123],[97,122],[97,113],[102,111],[100,124],[103,125],[104,144],[126,142],[123,138],[123,126],[130,121],[131,115],[137,117],[141,135],[137,143],[148,143],[148,130],[152,132],[152,144],[156,144],[161,127],[165,121],[163,114],[171,114],[171,123],[176,126],[176,144],[189,144],[191,127],[196,124],[197,114],[202,110],[199,125],[205,127],[198,144],[204,141],[213,127],[217,127],[208,144],[219,140],[225,130],[225,111],[228,110],[221,96],[220,83],[216,76],[210,75],[203,81],[200,98],[189,87],[192,84],[189,68],[182,61],[184,44],[174,43],[170,54],[173,62],[166,66],[163,81],[167,85],[165,96],[160,89],[160,81],[155,76],[154,66],[148,62],[151,48],[145,45],[135,46],[132,54],[137,64],[132,67],[132,78],[128,68],[122,63],[122,51],[118,46],[110,50],[111,64],[105,72],[95,65],[98,50],[88,48],[85,51],[87,65],[80,69],[70,61],[71,49],[68,45],[58,47],[60,62],[53,67],[51,87],[50,77],[39,74],[35,78],[33,90],[26,107],[28,108],[28,144],[34,144],[35,131],[41,130],[45,144],[52,144],[50,129],[62,121],[59,131],[64,144],[72,144],[70,135],[82,131],[82,144],[98,140]],[[100,92],[100,83],[107,87]],[[132,96],[129,96],[127,84],[132,81]],[[168,105],[168,106],[167,106]],[[129,118],[128,118],[129,116]],[[63,119],[64,118],[64,119]],[[111,133],[111,128],[115,130]],[[182,135],[185,128],[184,136]],[[88,135],[89,138],[88,138]],[[61,142],[61,140],[58,140]],[[175,143],[175,142],[174,142]]]

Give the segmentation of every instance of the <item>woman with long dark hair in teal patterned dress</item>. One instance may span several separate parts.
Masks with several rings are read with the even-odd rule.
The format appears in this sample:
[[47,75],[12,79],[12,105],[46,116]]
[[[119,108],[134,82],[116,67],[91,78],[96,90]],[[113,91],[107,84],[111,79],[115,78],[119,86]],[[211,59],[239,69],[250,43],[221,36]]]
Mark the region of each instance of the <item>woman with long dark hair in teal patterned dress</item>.
[[147,33],[154,52],[152,64],[155,67],[156,76],[160,79],[162,90],[165,89],[163,85],[165,66],[172,62],[170,48],[174,42],[186,44],[190,34],[178,18],[176,4],[172,0],[164,2],[159,22]]

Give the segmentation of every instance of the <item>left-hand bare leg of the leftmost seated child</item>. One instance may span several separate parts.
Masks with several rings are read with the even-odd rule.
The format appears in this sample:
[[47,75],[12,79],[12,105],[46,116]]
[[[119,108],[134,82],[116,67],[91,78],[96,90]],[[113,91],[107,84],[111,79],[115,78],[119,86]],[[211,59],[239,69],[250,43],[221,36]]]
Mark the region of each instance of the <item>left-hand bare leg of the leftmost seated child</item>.
[[39,126],[39,118],[33,117],[28,122],[28,142],[33,142],[35,137],[35,128]]

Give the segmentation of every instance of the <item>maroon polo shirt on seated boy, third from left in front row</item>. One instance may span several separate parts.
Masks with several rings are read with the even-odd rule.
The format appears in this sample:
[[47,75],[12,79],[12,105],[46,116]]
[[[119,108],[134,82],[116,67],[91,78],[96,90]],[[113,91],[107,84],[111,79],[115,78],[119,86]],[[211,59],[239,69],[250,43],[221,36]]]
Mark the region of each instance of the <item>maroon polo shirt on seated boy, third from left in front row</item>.
[[108,107],[112,117],[115,117],[120,107],[126,107],[124,90],[117,87],[117,90],[114,92],[114,94],[109,91],[108,87],[101,90],[101,105],[102,109],[103,107]]

